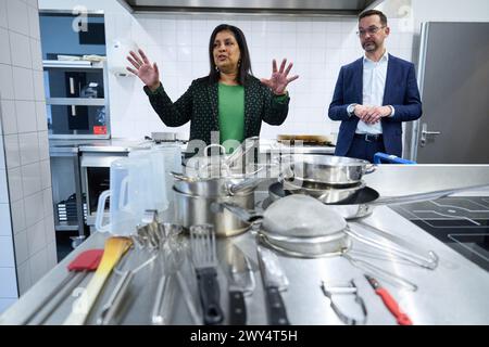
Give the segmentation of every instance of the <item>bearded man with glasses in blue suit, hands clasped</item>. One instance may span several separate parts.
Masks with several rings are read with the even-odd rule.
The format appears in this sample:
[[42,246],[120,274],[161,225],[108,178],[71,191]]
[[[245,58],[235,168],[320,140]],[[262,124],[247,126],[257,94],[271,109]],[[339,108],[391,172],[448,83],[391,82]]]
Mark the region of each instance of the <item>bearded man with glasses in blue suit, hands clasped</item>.
[[402,156],[402,121],[422,115],[414,65],[387,53],[386,15],[359,16],[365,56],[341,67],[328,116],[341,120],[335,155],[373,162],[376,152]]

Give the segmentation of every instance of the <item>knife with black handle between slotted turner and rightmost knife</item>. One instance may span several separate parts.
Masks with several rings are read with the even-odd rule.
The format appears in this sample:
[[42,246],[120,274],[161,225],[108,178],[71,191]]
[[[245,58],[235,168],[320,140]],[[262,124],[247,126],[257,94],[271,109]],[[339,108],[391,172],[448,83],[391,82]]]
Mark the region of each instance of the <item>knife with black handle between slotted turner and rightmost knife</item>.
[[247,307],[244,296],[254,291],[254,274],[250,260],[235,245],[227,253],[229,265],[229,324],[244,325],[247,323]]

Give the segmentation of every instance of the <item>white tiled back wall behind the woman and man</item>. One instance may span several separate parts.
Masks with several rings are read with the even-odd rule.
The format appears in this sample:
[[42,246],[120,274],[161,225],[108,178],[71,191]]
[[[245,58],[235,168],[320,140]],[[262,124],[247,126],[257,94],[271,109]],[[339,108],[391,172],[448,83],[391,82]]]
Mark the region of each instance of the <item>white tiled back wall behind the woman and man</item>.
[[[172,100],[181,95],[192,79],[209,73],[209,38],[221,23],[243,30],[256,77],[268,78],[272,60],[283,57],[292,61],[292,73],[300,75],[289,85],[291,103],[287,120],[280,127],[263,124],[263,138],[275,138],[278,133],[337,132],[339,124],[329,120],[326,113],[340,66],[363,54],[355,35],[355,17],[105,14],[108,44],[115,38],[125,38],[146,50],[159,64],[163,86]],[[390,21],[390,26],[389,52],[411,60],[412,33],[406,33],[398,20]],[[118,61],[113,54],[109,50],[110,65]],[[111,76],[113,137],[141,138],[152,131],[177,131],[188,136],[188,125],[168,129],[162,124],[141,88],[137,78]]]

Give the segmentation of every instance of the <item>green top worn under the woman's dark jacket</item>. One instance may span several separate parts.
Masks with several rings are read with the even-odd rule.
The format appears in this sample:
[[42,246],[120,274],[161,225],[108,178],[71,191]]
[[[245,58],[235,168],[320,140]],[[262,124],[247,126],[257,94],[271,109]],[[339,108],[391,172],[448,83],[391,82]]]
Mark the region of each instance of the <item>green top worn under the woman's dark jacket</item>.
[[244,140],[244,87],[218,83],[217,88],[221,144],[230,153],[237,144],[227,140]]

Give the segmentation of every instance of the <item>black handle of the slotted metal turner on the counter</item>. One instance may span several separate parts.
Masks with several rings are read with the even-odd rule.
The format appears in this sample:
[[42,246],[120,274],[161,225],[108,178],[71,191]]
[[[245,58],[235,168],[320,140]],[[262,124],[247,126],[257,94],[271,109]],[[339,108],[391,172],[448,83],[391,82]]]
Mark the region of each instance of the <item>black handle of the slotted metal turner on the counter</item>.
[[199,281],[199,294],[204,324],[220,324],[224,320],[224,314],[220,305],[221,295],[217,272],[214,268],[198,269],[196,272]]

